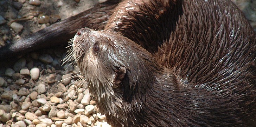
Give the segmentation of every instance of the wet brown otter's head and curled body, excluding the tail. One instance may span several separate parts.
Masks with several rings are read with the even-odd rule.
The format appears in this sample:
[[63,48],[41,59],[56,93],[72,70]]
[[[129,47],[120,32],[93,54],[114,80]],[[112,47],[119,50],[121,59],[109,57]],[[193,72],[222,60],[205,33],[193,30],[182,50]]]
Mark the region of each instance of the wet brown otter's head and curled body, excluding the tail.
[[70,55],[110,125],[256,125],[256,35],[236,6],[155,0],[116,8],[103,31],[77,32]]

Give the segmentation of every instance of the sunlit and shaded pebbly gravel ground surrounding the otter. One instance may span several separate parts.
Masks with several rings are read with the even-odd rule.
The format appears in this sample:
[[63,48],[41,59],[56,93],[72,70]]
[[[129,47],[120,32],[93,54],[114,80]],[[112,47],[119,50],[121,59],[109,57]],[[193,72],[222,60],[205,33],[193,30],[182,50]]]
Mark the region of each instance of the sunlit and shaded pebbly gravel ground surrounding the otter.
[[[256,30],[256,1],[232,1]],[[0,46],[49,26],[47,16],[65,19],[97,2],[102,0],[1,0]],[[9,22],[17,18],[23,19]],[[62,66],[65,52],[60,46],[0,61],[0,127],[108,126],[88,89],[82,88],[78,68]]]

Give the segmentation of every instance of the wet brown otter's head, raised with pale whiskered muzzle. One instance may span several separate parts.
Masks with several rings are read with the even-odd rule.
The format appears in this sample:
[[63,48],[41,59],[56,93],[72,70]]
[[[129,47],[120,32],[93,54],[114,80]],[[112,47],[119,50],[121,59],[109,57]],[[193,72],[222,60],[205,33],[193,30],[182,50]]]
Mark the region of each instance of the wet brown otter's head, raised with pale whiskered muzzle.
[[73,39],[73,56],[107,117],[125,122],[127,112],[141,110],[157,69],[149,52],[121,35],[82,28]]

